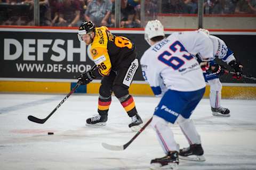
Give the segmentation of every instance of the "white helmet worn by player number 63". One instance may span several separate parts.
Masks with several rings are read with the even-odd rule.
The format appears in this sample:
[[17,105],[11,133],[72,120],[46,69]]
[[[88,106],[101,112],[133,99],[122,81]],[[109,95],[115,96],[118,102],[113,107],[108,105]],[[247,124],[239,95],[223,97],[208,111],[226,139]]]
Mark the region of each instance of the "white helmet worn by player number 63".
[[145,40],[150,45],[150,39],[157,36],[164,37],[164,26],[158,20],[148,21],[145,27]]

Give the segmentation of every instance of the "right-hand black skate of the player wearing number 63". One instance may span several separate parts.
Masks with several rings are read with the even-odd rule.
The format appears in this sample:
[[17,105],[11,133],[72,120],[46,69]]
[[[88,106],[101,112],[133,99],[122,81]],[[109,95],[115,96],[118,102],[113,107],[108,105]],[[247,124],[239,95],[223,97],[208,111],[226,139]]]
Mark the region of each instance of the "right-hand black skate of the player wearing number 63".
[[179,158],[183,160],[205,161],[204,150],[201,144],[190,145],[188,148],[180,149]]

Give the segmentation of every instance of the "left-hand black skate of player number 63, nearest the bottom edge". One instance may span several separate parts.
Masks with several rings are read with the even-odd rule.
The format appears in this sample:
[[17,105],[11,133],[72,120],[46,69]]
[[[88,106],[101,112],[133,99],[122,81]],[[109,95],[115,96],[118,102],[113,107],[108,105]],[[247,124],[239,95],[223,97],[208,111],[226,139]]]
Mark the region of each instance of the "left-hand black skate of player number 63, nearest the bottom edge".
[[150,169],[172,169],[177,170],[179,165],[179,153],[177,151],[168,152],[162,158],[151,160]]

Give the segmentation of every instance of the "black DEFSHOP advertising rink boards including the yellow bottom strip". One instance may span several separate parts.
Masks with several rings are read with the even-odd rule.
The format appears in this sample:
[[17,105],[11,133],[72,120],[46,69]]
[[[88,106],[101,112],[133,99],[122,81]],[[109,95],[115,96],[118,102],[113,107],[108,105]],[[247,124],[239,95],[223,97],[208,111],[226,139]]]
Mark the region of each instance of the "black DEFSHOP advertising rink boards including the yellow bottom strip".
[[[167,29],[166,35],[182,29]],[[235,50],[244,64],[245,73],[256,75],[253,44],[256,30],[210,30]],[[111,29],[115,35],[128,37],[137,46],[138,58],[149,47],[142,29]],[[77,40],[76,28],[6,27],[0,26],[0,92],[68,93],[76,84],[76,77],[93,66],[87,47]],[[245,48],[241,48],[242,46]],[[256,98],[256,84],[230,76],[221,78],[223,98]],[[100,80],[79,87],[76,92],[98,94]],[[143,81],[141,69],[135,74],[130,93],[153,95]],[[209,87],[205,97],[209,97]]]

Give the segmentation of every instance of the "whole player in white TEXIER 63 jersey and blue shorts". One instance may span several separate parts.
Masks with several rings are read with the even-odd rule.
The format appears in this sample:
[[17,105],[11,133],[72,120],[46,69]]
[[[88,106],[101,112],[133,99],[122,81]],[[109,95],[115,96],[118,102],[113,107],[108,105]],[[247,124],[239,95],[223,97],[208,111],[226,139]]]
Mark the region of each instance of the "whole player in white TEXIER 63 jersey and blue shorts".
[[[162,96],[155,109],[151,126],[166,156],[151,160],[151,169],[178,169],[179,157],[187,160],[205,160],[200,135],[189,118],[205,92],[201,66],[190,54],[202,59],[213,58],[212,42],[202,31],[175,32],[164,38],[164,29],[158,20],[149,21],[145,39],[151,45],[141,57],[144,79],[156,96]],[[169,123],[178,122],[189,147],[179,149]],[[190,156],[194,156],[191,158]]]

